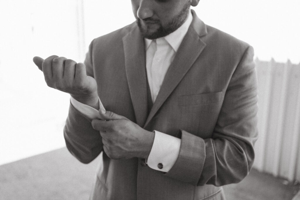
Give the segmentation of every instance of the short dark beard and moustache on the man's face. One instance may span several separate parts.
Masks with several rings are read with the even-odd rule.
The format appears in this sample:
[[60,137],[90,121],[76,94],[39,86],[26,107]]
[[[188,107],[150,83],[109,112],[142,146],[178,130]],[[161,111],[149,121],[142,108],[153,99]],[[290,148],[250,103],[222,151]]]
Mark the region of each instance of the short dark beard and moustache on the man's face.
[[[144,38],[154,40],[160,37],[167,36],[170,33],[173,33],[184,23],[185,19],[187,18],[188,12],[190,10],[190,4],[190,1],[187,1],[180,13],[176,15],[170,22],[168,22],[165,27],[163,27],[159,19],[155,20],[151,18],[146,18],[143,19],[143,22],[146,23],[142,24],[142,19],[137,18],[137,25],[140,28],[142,36]],[[158,24],[158,28],[153,32],[149,31],[149,25],[147,25],[147,22]]]

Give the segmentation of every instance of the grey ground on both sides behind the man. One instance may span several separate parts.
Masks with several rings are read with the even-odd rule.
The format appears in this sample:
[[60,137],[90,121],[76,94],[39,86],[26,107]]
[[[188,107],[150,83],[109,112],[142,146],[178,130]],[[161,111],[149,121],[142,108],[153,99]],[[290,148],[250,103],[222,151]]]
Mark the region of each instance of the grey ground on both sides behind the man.
[[[0,199],[88,199],[97,164],[97,159],[79,163],[61,148],[2,165]],[[227,200],[290,200],[299,189],[299,184],[256,170],[241,183],[224,187]]]

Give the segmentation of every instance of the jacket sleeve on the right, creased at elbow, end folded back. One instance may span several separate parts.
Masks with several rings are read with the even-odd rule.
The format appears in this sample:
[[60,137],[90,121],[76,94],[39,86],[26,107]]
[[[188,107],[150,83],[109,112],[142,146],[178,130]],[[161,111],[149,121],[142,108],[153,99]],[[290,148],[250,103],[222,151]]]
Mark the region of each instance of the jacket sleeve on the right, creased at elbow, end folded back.
[[212,137],[181,131],[179,156],[166,176],[193,185],[241,181],[254,160],[257,139],[257,77],[248,47],[233,73]]

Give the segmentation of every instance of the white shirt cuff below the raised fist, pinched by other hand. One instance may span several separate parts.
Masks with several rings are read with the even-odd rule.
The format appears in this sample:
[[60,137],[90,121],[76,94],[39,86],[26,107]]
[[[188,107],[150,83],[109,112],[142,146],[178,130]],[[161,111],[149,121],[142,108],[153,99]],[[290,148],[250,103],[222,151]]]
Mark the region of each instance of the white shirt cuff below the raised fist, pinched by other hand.
[[[99,100],[99,108],[101,110],[105,110],[99,97],[98,97],[98,100]],[[81,102],[77,101],[76,99],[74,99],[73,97],[70,97],[70,102],[74,106],[74,108],[77,109],[85,117],[87,117],[89,119],[100,118],[99,112],[95,108],[88,106],[84,103],[81,103]]]

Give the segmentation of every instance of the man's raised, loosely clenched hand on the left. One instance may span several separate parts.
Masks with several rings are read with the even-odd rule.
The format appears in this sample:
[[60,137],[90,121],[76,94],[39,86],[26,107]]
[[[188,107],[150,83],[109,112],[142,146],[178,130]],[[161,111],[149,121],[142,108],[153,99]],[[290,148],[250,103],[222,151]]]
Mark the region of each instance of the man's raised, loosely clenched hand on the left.
[[45,60],[36,56],[33,62],[43,71],[49,87],[67,92],[77,101],[99,109],[97,83],[93,77],[86,75],[83,63],[56,55]]

